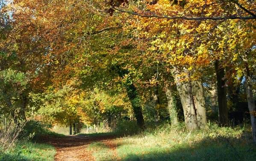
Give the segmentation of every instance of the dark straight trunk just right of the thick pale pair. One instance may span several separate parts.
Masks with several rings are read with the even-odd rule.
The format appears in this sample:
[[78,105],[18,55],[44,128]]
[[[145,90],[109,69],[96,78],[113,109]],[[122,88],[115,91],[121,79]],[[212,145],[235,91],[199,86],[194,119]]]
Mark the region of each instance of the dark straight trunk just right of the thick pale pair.
[[220,67],[219,60],[215,61],[215,71],[217,76],[217,95],[219,107],[219,121],[221,126],[228,124],[228,110],[227,110],[227,91],[224,80],[224,68]]

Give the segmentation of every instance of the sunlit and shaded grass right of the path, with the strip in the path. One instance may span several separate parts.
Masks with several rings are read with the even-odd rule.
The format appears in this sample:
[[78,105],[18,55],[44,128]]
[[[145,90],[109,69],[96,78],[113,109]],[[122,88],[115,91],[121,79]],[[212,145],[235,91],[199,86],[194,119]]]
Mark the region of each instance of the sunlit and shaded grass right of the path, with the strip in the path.
[[[150,132],[118,138],[113,143],[117,145],[115,157],[124,161],[249,161],[256,158],[250,126],[230,128],[209,124],[209,129],[191,132],[183,127],[164,125]],[[98,161],[107,160],[105,154],[109,149],[102,144],[89,146]]]

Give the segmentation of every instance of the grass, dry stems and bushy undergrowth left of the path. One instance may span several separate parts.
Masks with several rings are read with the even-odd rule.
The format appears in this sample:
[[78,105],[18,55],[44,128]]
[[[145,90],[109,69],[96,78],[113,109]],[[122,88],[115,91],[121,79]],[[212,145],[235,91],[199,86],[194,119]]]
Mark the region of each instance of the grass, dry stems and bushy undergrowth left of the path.
[[22,127],[11,122],[8,129],[1,129],[0,132],[0,161],[54,160],[55,148],[50,144],[36,142],[42,136],[56,137],[60,135],[50,132],[47,126],[41,122],[31,120]]

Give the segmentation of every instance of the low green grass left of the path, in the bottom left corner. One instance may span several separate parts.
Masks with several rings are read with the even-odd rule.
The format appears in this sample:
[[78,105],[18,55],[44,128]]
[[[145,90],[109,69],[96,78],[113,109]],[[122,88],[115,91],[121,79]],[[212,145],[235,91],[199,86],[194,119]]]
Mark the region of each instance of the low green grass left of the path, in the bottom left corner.
[[7,152],[0,153],[0,161],[53,161],[55,154],[50,144],[20,141]]

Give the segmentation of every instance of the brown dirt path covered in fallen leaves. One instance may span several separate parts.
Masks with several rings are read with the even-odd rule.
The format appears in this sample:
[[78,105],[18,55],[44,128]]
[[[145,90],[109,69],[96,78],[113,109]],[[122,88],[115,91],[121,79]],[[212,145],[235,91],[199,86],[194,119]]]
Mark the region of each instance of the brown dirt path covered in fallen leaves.
[[91,152],[86,150],[88,144],[96,141],[106,143],[114,140],[115,136],[65,136],[61,138],[47,138],[47,142],[56,148],[56,161],[94,161]]

